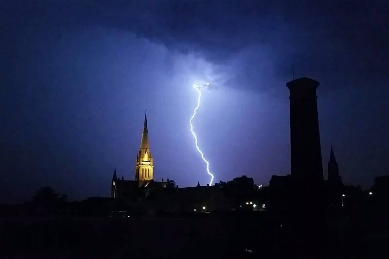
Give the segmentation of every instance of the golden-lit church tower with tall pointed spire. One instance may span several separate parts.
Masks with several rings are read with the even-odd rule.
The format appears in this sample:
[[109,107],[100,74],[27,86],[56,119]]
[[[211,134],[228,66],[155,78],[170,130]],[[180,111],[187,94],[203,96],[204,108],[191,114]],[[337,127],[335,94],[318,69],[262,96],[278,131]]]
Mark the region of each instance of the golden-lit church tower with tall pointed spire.
[[140,150],[137,155],[135,166],[135,180],[138,182],[138,187],[146,186],[153,179],[153,156],[150,152],[149,134],[147,130],[147,110],[144,114],[144,126],[142,137],[140,140]]

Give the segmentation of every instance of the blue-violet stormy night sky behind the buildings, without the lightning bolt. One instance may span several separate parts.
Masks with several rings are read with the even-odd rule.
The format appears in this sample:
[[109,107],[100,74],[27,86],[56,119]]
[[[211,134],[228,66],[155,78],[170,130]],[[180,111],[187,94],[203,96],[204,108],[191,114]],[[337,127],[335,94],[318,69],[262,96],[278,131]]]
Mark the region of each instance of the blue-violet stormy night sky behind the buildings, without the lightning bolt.
[[0,202],[52,186],[71,200],[134,179],[144,109],[155,180],[290,173],[289,90],[317,91],[325,178],[330,146],[348,184],[389,169],[388,1],[0,2]]

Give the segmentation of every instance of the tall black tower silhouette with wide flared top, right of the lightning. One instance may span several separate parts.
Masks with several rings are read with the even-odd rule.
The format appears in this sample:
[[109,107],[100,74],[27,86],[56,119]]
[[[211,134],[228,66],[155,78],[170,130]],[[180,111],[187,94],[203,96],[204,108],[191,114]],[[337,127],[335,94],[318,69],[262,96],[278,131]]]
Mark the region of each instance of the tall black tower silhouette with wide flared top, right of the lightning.
[[286,83],[290,90],[291,174],[297,184],[322,184],[316,89],[319,82],[306,77]]

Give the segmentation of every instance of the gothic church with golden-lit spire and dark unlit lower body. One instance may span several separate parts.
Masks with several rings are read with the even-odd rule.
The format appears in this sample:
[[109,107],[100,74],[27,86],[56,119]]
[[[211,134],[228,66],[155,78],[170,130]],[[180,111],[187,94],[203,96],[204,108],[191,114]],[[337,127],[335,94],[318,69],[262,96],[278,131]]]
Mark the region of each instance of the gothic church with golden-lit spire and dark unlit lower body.
[[147,110],[144,115],[144,125],[140,139],[140,149],[135,164],[135,180],[124,180],[117,177],[116,169],[111,181],[111,197],[123,198],[131,201],[140,201],[156,189],[167,187],[168,182],[157,182],[154,179],[153,155],[150,151],[149,133],[147,129]]

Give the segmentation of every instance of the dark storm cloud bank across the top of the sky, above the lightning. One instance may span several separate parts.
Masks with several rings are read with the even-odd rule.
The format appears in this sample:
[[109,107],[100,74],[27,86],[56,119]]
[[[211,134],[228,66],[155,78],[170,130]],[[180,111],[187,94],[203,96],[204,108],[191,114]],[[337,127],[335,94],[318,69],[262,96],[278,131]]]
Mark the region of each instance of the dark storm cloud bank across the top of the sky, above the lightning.
[[80,26],[134,32],[170,49],[202,53],[232,72],[224,83],[232,87],[275,87],[291,78],[292,63],[297,77],[324,80],[327,89],[389,79],[386,1],[37,1],[30,5],[9,7],[16,13],[16,23],[46,26],[56,31],[56,37]]

